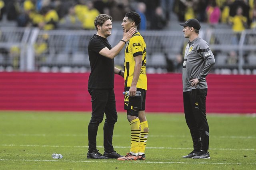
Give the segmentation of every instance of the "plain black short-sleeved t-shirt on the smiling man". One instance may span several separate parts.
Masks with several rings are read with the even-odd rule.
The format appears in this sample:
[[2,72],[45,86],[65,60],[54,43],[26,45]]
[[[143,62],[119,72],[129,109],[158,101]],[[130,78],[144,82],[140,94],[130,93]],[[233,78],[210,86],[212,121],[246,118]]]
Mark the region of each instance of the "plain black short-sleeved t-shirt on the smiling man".
[[109,59],[99,54],[105,47],[112,49],[106,38],[94,34],[88,45],[91,66],[88,88],[114,88],[114,59]]

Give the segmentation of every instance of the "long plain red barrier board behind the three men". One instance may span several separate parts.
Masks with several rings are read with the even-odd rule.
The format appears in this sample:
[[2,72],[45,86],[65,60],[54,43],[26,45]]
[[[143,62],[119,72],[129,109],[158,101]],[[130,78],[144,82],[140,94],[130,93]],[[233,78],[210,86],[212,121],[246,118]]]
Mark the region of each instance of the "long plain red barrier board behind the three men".
[[[0,110],[91,111],[88,73],[0,73]],[[207,77],[208,113],[256,113],[256,76]],[[124,80],[115,77],[116,108]],[[181,74],[148,74],[147,112],[183,112]]]

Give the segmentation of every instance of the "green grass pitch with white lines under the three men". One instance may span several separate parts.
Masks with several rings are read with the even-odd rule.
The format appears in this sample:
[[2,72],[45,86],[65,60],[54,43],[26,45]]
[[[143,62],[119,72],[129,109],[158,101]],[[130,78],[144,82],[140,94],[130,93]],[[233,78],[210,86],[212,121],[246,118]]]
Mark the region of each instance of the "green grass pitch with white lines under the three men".
[[[87,159],[87,127],[90,113],[83,112],[0,112],[0,170],[12,169],[120,169],[190,170],[256,169],[256,116],[208,114],[211,159],[182,156],[192,151],[192,139],[183,114],[147,113],[149,136],[145,161]],[[103,149],[103,123],[97,145]],[[130,150],[130,125],[126,113],[118,113],[114,128],[114,149]],[[52,159],[60,153],[62,159]]]

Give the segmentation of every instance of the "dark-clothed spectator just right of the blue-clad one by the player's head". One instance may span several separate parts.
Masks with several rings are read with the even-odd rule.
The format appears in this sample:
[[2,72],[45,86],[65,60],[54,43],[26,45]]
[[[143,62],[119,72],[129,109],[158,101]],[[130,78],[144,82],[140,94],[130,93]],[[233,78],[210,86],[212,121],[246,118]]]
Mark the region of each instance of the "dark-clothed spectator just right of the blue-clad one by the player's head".
[[158,6],[151,20],[151,29],[164,29],[164,27],[166,27],[166,23],[167,20],[162,10],[162,7]]

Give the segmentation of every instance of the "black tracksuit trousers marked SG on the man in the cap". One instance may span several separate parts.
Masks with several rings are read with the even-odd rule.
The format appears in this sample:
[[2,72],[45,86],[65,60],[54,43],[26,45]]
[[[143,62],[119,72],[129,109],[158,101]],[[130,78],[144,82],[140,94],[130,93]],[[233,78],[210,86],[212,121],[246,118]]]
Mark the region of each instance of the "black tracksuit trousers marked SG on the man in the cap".
[[209,125],[206,119],[207,88],[183,92],[186,123],[190,129],[194,150],[209,149]]

